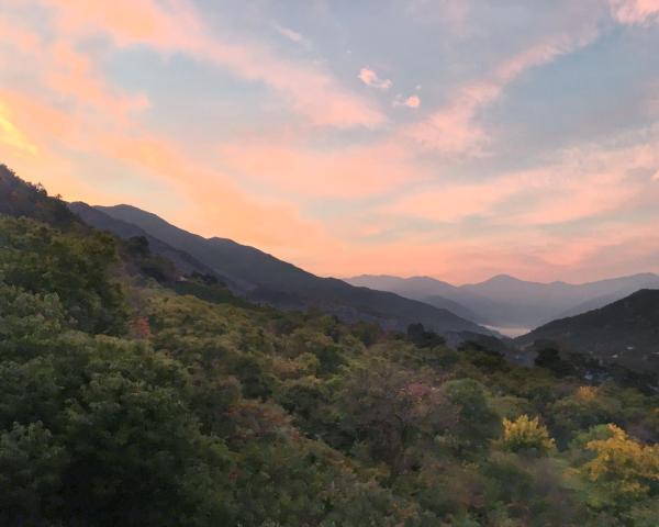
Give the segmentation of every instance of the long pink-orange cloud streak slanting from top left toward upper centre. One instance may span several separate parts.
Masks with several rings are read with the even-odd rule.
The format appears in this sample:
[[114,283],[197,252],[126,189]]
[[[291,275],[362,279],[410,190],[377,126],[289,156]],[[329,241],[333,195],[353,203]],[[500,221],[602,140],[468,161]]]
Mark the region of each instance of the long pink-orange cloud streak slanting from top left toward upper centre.
[[109,35],[119,46],[146,45],[161,53],[185,53],[227,68],[280,92],[298,113],[317,126],[379,126],[384,115],[350,93],[320,66],[282,58],[258,42],[211,34],[186,0],[42,0],[53,9],[59,31],[86,37]]

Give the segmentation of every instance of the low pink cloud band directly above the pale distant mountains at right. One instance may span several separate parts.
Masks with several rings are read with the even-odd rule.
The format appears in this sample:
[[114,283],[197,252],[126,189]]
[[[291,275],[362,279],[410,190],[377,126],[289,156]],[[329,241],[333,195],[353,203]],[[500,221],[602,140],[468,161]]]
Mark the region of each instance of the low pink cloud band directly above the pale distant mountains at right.
[[[378,235],[378,225],[358,225],[360,235]],[[502,271],[532,280],[589,281],[648,268],[659,235],[652,225],[629,228],[608,222],[569,233],[521,223],[515,229],[465,235],[410,234],[396,243],[355,242],[340,254],[320,255],[313,268],[321,273],[429,274],[456,283],[490,278]]]

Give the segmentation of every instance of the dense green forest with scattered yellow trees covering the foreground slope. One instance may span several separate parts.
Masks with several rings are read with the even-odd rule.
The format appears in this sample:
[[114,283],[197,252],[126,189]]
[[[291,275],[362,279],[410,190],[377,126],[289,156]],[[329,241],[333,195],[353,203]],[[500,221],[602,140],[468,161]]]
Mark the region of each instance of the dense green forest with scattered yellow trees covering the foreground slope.
[[643,526],[659,396],[282,312],[0,173],[0,524]]

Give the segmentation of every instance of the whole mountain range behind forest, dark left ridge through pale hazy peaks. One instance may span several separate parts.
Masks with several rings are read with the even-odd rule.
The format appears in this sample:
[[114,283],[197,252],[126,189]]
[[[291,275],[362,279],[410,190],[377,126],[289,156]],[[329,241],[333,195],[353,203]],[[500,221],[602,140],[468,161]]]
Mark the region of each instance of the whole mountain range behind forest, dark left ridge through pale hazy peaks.
[[185,273],[214,274],[236,294],[282,309],[316,307],[344,319],[367,319],[403,329],[421,322],[444,335],[528,333],[554,319],[585,313],[640,289],[659,289],[659,276],[640,273],[595,282],[539,283],[499,274],[453,285],[429,277],[321,278],[254,247],[183,231],[131,205],[71,203],[86,223],[121,237],[145,236],[152,250]]

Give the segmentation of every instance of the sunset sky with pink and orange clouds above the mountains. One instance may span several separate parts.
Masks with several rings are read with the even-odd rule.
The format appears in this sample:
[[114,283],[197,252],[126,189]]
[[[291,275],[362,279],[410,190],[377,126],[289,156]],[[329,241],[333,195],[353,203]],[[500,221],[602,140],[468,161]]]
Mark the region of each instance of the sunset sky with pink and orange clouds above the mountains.
[[0,162],[321,276],[659,271],[659,0],[1,0]]

